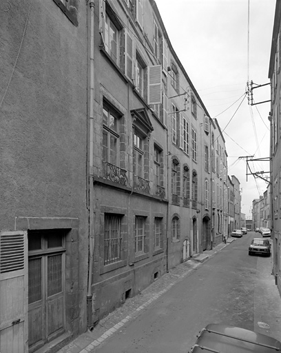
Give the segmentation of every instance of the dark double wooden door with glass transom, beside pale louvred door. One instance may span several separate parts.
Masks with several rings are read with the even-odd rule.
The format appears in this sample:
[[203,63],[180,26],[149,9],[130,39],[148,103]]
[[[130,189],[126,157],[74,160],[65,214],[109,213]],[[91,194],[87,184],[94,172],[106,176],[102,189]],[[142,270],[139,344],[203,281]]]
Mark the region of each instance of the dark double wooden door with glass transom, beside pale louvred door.
[[34,352],[65,332],[65,232],[28,232],[28,345]]

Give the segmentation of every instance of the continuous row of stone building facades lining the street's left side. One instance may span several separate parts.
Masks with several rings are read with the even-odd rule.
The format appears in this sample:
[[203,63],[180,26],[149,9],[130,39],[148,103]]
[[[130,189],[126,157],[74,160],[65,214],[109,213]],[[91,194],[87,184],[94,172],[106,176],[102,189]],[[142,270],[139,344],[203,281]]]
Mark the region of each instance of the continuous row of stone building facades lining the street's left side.
[[222,242],[227,152],[154,0],[5,6],[0,351],[55,351]]

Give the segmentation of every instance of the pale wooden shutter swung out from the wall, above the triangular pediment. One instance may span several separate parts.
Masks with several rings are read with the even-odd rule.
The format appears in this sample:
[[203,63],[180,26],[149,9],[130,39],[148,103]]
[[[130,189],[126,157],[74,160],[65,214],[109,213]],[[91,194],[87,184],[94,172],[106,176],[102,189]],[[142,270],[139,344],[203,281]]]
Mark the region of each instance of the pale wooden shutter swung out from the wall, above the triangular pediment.
[[162,68],[161,65],[148,66],[148,104],[162,103]]

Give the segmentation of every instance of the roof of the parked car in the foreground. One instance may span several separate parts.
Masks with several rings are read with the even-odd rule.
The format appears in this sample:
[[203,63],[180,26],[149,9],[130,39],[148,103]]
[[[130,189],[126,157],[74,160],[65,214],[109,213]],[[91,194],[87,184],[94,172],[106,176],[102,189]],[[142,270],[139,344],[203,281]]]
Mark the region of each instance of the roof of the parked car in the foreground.
[[281,342],[241,327],[211,323],[200,332],[190,352],[273,353],[281,352]]

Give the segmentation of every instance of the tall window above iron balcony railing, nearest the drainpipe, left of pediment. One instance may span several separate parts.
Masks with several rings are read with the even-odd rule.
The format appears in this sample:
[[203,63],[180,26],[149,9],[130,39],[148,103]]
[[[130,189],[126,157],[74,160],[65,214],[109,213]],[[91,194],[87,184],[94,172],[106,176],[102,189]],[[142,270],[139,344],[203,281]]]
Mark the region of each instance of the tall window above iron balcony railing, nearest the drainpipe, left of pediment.
[[119,134],[118,114],[103,105],[103,161],[118,165]]

